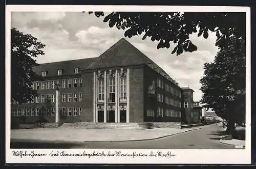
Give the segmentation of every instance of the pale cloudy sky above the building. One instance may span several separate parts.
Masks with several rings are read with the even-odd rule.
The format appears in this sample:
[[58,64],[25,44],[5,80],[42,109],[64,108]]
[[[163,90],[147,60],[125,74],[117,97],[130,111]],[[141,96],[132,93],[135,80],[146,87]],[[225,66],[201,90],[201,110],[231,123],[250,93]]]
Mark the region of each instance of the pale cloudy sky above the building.
[[[98,57],[124,38],[124,31],[110,28],[103,17],[82,12],[12,12],[11,26],[46,45],[45,55],[36,58],[39,64]],[[180,87],[193,89],[194,101],[199,101],[203,64],[214,61],[218,52],[215,34],[209,33],[207,39],[191,35],[190,40],[198,50],[179,56],[171,54],[175,44],[170,44],[169,49],[157,49],[158,42],[150,38],[142,40],[142,36],[125,39],[163,68]]]

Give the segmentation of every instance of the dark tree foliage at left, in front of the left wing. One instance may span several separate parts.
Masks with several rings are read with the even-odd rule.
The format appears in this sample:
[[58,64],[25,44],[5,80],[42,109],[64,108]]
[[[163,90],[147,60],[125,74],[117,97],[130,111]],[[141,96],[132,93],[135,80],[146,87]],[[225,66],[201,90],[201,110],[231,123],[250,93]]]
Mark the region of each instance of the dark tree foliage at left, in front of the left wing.
[[[31,101],[36,96],[36,90],[31,85],[40,77],[33,72],[37,66],[36,60],[39,55],[44,55],[41,49],[45,45],[38,42],[37,38],[23,34],[15,28],[11,29],[11,99],[21,103]],[[11,101],[12,101],[11,100]]]

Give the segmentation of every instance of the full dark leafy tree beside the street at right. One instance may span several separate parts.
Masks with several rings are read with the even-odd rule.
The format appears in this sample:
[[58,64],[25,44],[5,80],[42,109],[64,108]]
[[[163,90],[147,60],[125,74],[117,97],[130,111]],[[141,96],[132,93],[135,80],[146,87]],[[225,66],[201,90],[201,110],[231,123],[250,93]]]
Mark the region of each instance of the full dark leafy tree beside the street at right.
[[245,120],[245,41],[230,38],[227,47],[220,47],[214,63],[204,64],[204,76],[200,79],[202,103],[216,114],[234,123]]

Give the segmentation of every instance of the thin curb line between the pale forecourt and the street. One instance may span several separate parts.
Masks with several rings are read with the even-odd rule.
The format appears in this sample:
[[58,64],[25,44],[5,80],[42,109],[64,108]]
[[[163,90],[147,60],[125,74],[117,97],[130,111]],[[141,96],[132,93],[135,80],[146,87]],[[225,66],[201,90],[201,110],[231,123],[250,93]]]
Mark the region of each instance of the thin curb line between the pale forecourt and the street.
[[168,135],[164,135],[164,136],[160,136],[160,137],[156,137],[156,138],[148,138],[148,139],[133,139],[133,140],[105,140],[105,141],[67,141],[67,140],[38,140],[38,139],[19,139],[19,138],[11,138],[11,140],[18,141],[18,142],[40,142],[40,143],[49,143],[49,142],[55,142],[55,143],[90,143],[90,142],[139,142],[139,141],[144,141],[144,140],[153,140],[153,139],[159,139],[159,138],[164,138],[164,137],[168,137],[168,136],[172,136],[172,135],[177,135],[177,134],[181,134],[181,133],[185,133],[188,131],[193,131],[193,130],[199,130],[201,128],[197,128],[197,129],[190,129],[187,131],[183,131],[183,132],[179,132],[179,133],[175,133],[175,134],[168,134]]

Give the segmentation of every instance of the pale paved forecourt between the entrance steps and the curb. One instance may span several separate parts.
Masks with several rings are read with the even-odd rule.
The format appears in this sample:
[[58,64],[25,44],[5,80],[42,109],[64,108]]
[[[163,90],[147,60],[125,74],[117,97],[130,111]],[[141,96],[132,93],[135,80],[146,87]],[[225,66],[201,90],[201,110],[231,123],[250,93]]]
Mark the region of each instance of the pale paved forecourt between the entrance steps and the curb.
[[129,129],[74,129],[42,128],[11,130],[11,139],[34,140],[38,142],[125,142],[162,138],[192,129],[155,128],[147,130]]

